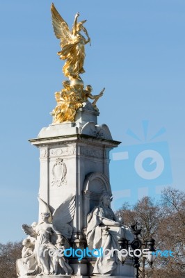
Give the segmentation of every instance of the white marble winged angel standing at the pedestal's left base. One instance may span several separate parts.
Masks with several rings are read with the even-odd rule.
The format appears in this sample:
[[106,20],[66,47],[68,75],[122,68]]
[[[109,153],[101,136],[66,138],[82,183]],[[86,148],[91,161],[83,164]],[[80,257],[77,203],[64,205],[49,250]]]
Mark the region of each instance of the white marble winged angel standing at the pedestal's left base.
[[[63,238],[64,242],[68,243],[67,239],[72,236],[72,227],[68,223],[74,217],[75,199],[74,197],[69,197],[56,208],[52,216],[47,204],[40,198],[39,202],[44,207],[44,211],[41,213],[42,220],[37,224],[35,229],[27,224],[23,224],[22,229],[26,234],[35,238],[34,254],[40,268],[38,274],[57,275],[58,273],[55,273],[55,270],[58,268],[56,268],[51,256],[49,256],[49,250],[56,249],[57,238]],[[67,274],[66,263],[64,271]]]

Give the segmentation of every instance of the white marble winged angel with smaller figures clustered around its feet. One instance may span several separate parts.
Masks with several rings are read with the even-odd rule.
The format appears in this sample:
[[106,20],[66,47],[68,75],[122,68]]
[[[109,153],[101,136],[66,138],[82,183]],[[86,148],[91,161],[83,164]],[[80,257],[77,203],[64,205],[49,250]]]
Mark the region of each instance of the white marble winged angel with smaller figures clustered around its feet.
[[[24,232],[29,235],[26,240],[29,240],[30,244],[25,246],[30,249],[30,252],[26,255],[28,257],[26,261],[24,259],[17,261],[17,274],[72,274],[72,268],[68,265],[67,259],[50,256],[49,251],[57,250],[61,243],[63,243],[62,247],[65,248],[72,236],[72,227],[68,223],[74,218],[75,196],[68,197],[65,202],[56,208],[52,215],[47,204],[42,199],[38,199],[43,208],[41,220],[35,226],[22,225]],[[35,238],[35,240],[30,238]],[[25,266],[25,263],[28,264]]]

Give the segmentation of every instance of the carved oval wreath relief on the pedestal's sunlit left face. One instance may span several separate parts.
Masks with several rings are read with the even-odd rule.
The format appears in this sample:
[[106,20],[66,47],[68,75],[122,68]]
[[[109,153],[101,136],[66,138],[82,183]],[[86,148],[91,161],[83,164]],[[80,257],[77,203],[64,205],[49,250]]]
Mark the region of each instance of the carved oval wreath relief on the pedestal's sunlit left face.
[[67,174],[67,167],[65,163],[63,163],[63,158],[56,159],[56,163],[54,164],[51,173],[53,175],[51,186],[62,186],[63,184],[66,184],[65,176]]

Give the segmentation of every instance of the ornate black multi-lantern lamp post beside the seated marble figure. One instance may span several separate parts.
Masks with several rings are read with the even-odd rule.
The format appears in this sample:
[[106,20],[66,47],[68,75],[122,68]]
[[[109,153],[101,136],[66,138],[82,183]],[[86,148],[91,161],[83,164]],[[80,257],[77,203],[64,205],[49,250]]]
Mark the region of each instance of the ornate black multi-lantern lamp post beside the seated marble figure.
[[[141,254],[140,249],[141,249],[142,245],[145,245],[149,249],[148,254],[147,254],[147,261],[151,267],[152,267],[152,263],[154,262],[154,259],[156,259],[156,255],[154,254],[155,240],[153,238],[150,238],[150,239],[146,240],[145,243],[142,243],[140,241],[140,239],[138,238],[141,230],[142,229],[138,229],[138,222],[136,222],[136,224],[131,225],[131,231],[136,236],[136,238],[131,243],[129,243],[129,240],[126,240],[125,238],[121,238],[120,240],[118,240],[118,243],[120,245],[120,250],[128,250],[129,245],[131,246],[132,250],[134,250],[134,257],[133,257],[133,259],[134,259],[134,278],[138,278],[138,270],[140,267],[139,255]],[[127,256],[122,256],[122,258],[120,258],[120,259],[122,261],[122,264],[124,264],[124,261],[126,261]]]

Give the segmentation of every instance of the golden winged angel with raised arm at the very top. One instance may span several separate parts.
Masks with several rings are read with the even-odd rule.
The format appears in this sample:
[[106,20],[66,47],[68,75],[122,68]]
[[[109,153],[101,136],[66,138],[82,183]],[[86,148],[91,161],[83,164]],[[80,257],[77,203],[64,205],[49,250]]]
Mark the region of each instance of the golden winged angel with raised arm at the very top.
[[[65,65],[63,66],[63,73],[70,80],[81,79],[79,74],[85,72],[83,69],[83,63],[86,56],[85,44],[90,42],[88,31],[83,26],[86,20],[77,22],[79,17],[79,13],[77,13],[74,17],[72,31],[70,31],[67,23],[56,10],[54,3],[51,5],[51,17],[56,38],[61,40],[60,45],[62,50],[58,51],[58,55],[61,60],[66,60]],[[81,31],[85,33],[87,38],[81,35]]]

